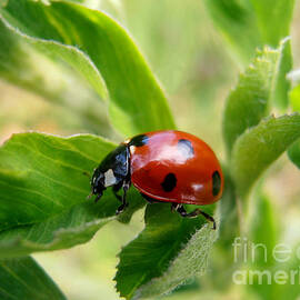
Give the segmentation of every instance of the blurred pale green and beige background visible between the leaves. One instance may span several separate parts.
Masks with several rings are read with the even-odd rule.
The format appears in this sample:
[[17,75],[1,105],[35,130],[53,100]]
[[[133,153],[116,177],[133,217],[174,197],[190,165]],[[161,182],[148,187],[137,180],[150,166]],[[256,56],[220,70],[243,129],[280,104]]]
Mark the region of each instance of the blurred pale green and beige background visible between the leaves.
[[[86,1],[86,4],[107,11],[128,29],[166,90],[178,128],[201,137],[223,159],[221,116],[226,97],[242,69],[232,49],[214,28],[202,1],[188,0],[182,4],[181,0],[104,0]],[[291,30],[294,69],[300,66],[299,21],[300,6],[297,2]],[[32,53],[30,60],[40,63],[37,53]],[[49,68],[39,70],[41,76],[46,69],[50,84],[56,84],[56,70],[51,72],[49,64]],[[94,96],[84,92],[84,87],[76,87],[73,84],[73,92],[82,93],[82,101],[77,101],[70,110],[0,79],[0,142],[11,133],[27,130],[61,136],[92,131],[120,140],[107,123],[103,104],[94,108],[94,102],[87,100]],[[93,107],[88,107],[91,103]],[[87,108],[84,122],[78,108]],[[92,124],[89,123],[90,109],[97,110],[99,118]],[[94,126],[98,121],[99,128]],[[300,220],[299,182],[300,172],[282,157],[272,167],[263,187],[276,210],[281,212],[279,216],[289,216],[280,219],[284,240],[291,244],[300,240],[300,234],[293,230]],[[110,222],[87,244],[34,254],[34,258],[71,300],[119,299],[112,281],[118,263],[116,254],[142,227],[143,212],[139,211],[129,226]],[[222,261],[217,250],[213,259]],[[228,284],[223,289],[218,284],[223,278],[224,274],[214,273],[211,268],[208,274],[166,299],[257,299],[244,286]]]

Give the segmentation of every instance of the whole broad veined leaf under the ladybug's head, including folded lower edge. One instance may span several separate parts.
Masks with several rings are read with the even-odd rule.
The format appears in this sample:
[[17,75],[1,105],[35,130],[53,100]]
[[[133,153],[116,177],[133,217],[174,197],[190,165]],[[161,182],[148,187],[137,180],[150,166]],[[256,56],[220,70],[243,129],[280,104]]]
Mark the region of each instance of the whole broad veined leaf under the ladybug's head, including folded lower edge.
[[[116,219],[119,201],[107,191],[99,203],[86,198],[89,179],[116,144],[90,134],[59,138],[14,134],[0,148],[0,257],[69,248],[92,238]],[[128,221],[143,201],[133,189]]]

